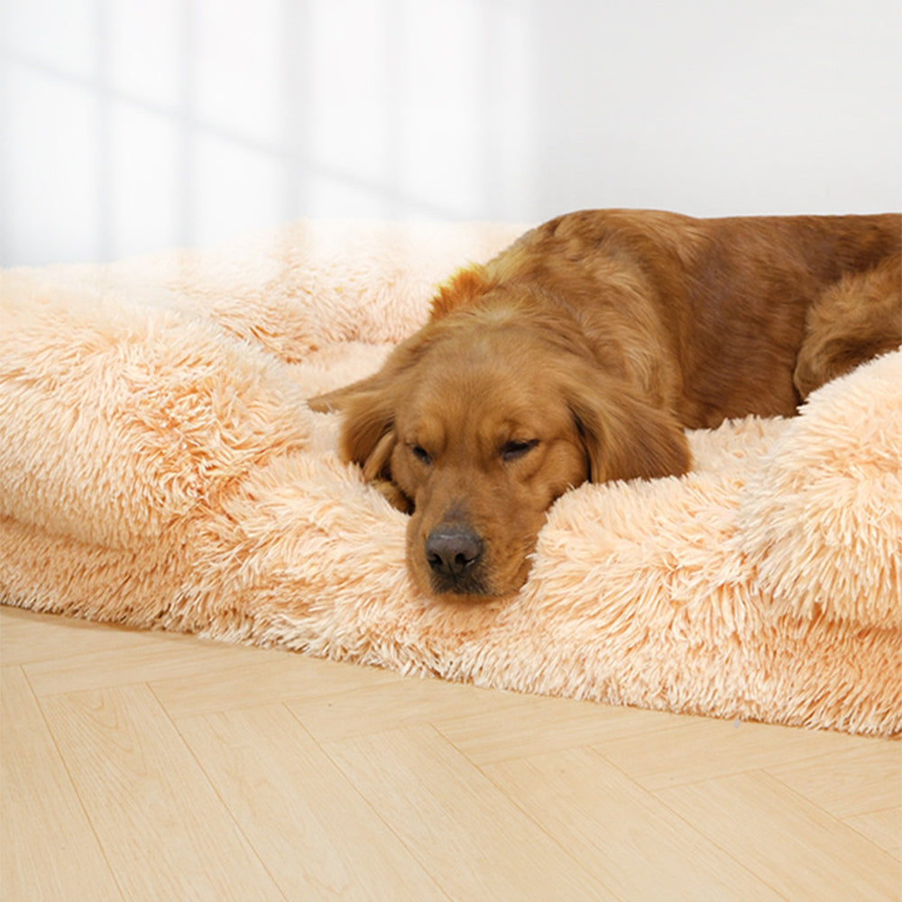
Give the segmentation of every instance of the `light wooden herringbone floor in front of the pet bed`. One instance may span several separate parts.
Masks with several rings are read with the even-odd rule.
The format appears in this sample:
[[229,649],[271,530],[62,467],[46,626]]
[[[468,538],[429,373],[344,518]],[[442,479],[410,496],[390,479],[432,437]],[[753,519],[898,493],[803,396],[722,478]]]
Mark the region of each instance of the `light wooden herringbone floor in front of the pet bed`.
[[5,902],[902,898],[898,742],[0,630]]

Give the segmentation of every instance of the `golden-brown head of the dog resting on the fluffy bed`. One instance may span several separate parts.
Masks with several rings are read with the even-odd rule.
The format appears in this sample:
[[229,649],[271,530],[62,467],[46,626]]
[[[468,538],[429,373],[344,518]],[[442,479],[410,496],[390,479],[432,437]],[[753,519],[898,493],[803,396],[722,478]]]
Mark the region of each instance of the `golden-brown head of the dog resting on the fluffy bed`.
[[574,324],[494,293],[310,402],[342,412],[344,459],[410,511],[410,571],[435,596],[516,592],[568,489],[689,465],[676,421],[604,373]]

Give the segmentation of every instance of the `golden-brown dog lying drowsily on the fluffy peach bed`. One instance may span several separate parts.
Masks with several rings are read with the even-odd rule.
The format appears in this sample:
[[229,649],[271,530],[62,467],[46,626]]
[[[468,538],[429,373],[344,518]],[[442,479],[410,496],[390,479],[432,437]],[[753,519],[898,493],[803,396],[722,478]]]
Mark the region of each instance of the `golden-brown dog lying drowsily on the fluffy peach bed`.
[[902,342],[902,216],[587,210],[440,286],[382,369],[308,401],[410,512],[426,594],[516,593],[564,492],[691,466],[686,428],[788,417]]

